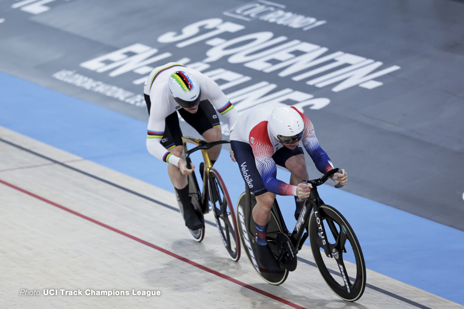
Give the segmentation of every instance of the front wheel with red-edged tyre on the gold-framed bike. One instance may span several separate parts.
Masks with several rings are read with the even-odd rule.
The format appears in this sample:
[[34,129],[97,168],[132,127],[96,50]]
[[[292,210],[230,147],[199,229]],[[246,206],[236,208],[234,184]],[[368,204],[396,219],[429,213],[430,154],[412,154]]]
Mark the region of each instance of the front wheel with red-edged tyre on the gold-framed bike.
[[237,221],[226,185],[214,168],[209,170],[209,199],[222,242],[233,261],[240,258]]

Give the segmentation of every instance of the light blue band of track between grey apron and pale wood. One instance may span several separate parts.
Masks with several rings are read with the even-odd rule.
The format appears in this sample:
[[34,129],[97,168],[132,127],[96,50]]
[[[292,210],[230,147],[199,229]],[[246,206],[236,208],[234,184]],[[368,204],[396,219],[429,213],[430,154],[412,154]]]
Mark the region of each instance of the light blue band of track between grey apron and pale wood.
[[[4,73],[0,93],[1,126],[173,191],[166,164],[145,148],[145,122]],[[215,167],[236,203],[244,184],[235,163],[223,153]],[[330,186],[319,191],[353,226],[368,269],[464,305],[464,232]],[[289,200],[282,211],[291,225],[293,199],[279,198]]]

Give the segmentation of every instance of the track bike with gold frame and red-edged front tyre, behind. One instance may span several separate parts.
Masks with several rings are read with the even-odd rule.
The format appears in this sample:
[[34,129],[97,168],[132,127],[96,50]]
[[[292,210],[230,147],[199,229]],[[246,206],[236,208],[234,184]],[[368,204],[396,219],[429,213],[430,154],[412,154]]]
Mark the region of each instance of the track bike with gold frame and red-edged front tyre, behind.
[[[189,229],[189,231],[195,241],[202,241],[205,237],[204,215],[208,212],[213,212],[216,225],[219,229],[219,234],[227,252],[231,256],[232,260],[238,261],[240,258],[240,241],[238,240],[235,212],[233,210],[232,202],[229,193],[227,192],[226,185],[224,184],[224,181],[222,180],[219,172],[214,169],[208,155],[209,148],[219,144],[230,143],[230,141],[217,141],[208,143],[201,139],[182,136],[182,142],[184,147],[184,159],[187,161],[187,168],[191,168],[190,155],[197,150],[201,150],[204,164],[203,171],[200,171],[200,173],[203,173],[203,190],[200,190],[195,172],[188,175],[190,199],[192,200],[195,211],[199,214],[199,217],[203,223],[202,228],[197,230]],[[192,143],[196,145],[196,147],[188,150],[187,143]],[[179,197],[177,197],[177,201],[179,202],[180,212],[182,212],[183,208]]]

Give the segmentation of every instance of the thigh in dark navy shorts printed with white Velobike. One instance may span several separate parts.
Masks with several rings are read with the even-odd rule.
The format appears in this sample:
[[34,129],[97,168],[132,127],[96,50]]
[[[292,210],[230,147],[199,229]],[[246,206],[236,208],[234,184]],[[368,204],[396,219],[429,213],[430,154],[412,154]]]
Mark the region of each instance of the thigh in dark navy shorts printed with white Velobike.
[[261,195],[268,192],[264,187],[263,179],[256,168],[255,157],[253,150],[248,143],[231,141],[231,148],[235,160],[238,163],[240,174],[250,191],[255,195]]

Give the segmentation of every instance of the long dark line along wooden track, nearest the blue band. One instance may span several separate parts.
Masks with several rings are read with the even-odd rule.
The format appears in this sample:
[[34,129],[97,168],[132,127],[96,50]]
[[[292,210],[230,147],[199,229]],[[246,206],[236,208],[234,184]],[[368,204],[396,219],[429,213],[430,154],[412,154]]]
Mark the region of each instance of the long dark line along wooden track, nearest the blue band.
[[[118,184],[116,184],[116,183],[114,183],[114,182],[109,181],[109,180],[105,180],[105,179],[100,178],[100,177],[98,177],[98,176],[96,176],[96,175],[93,175],[93,174],[84,172],[83,170],[80,170],[80,169],[78,169],[78,168],[76,168],[76,167],[72,167],[72,166],[70,166],[70,165],[67,165],[67,164],[65,164],[65,163],[59,162],[59,161],[54,160],[54,159],[52,159],[52,158],[50,158],[50,157],[47,157],[47,156],[45,156],[45,155],[41,155],[41,154],[39,154],[38,152],[35,152],[35,151],[31,150],[31,149],[27,149],[27,148],[24,148],[24,147],[22,147],[22,146],[19,146],[19,145],[13,143],[13,142],[6,141],[6,140],[4,140],[4,139],[1,138],[1,137],[0,137],[0,141],[6,143],[6,144],[8,144],[8,145],[11,145],[11,146],[13,146],[13,147],[19,148],[19,149],[21,149],[21,150],[23,150],[23,151],[26,151],[26,152],[28,152],[28,153],[30,153],[30,154],[32,154],[32,155],[36,155],[36,156],[38,156],[38,157],[40,157],[40,158],[42,158],[42,159],[45,159],[45,160],[48,160],[48,161],[52,161],[53,163],[56,163],[56,164],[59,164],[59,165],[61,165],[61,166],[63,166],[63,167],[69,168],[69,169],[71,169],[71,170],[73,170],[73,171],[75,171],[75,172],[77,172],[77,173],[84,174],[84,175],[89,176],[89,177],[91,177],[91,178],[93,178],[93,179],[102,181],[102,182],[104,182],[104,183],[106,183],[106,184],[108,184],[108,185],[110,185],[110,186],[116,187],[116,188],[121,189],[121,190],[123,190],[123,191],[126,191],[126,192],[128,192],[128,193],[134,194],[134,195],[136,195],[136,196],[138,196],[138,197],[141,197],[142,199],[149,200],[149,201],[151,201],[151,202],[154,202],[154,203],[156,203],[156,204],[158,204],[158,205],[167,207],[167,208],[169,208],[169,209],[171,209],[171,210],[174,210],[174,211],[176,211],[176,212],[180,212],[179,209],[177,209],[177,208],[175,208],[175,207],[173,207],[173,206],[170,206],[170,205],[168,205],[168,204],[166,204],[166,203],[160,202],[159,200],[152,199],[152,198],[150,198],[150,197],[148,197],[148,196],[146,196],[146,195],[143,195],[143,194],[141,194],[141,193],[135,192],[135,191],[130,190],[130,189],[126,188],[126,187],[122,187],[122,186],[120,186],[120,185],[118,185]],[[211,222],[211,221],[208,221],[208,220],[205,220],[205,223],[208,223],[209,225],[216,226],[215,223],[213,223],[213,222]],[[305,263],[305,264],[308,264],[308,265],[311,265],[311,266],[317,268],[316,263],[313,263],[313,262],[311,262],[311,261],[309,261],[309,260],[307,260],[307,259],[298,258],[298,260],[301,261],[301,262],[303,262],[303,263]],[[335,270],[329,270],[329,271],[330,271],[331,273],[333,273],[333,274],[335,274],[335,275],[341,277],[341,275],[340,275],[337,271],[335,271]],[[351,279],[353,280],[353,278],[351,278]],[[405,298],[405,297],[403,297],[403,296],[399,296],[399,295],[394,294],[394,293],[392,293],[392,292],[389,292],[389,291],[387,291],[387,290],[383,290],[383,289],[381,289],[381,288],[379,288],[379,287],[377,287],[377,286],[375,286],[375,285],[366,283],[366,287],[369,288],[369,289],[375,290],[375,291],[377,291],[377,292],[379,292],[379,293],[385,294],[385,295],[387,295],[387,296],[393,297],[393,298],[395,298],[395,299],[397,299],[397,300],[400,300],[400,301],[402,301],[402,302],[408,303],[408,304],[410,304],[410,305],[412,305],[412,306],[415,306],[415,307],[417,307],[417,308],[421,308],[421,309],[432,309],[432,308],[430,308],[430,307],[427,307],[427,306],[425,306],[425,305],[422,305],[422,304],[420,304],[420,303],[416,303],[416,302],[414,302],[414,301],[412,301],[412,300],[410,300],[410,299],[407,299],[407,298]]]

